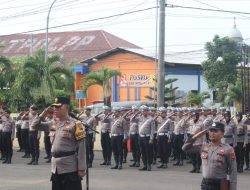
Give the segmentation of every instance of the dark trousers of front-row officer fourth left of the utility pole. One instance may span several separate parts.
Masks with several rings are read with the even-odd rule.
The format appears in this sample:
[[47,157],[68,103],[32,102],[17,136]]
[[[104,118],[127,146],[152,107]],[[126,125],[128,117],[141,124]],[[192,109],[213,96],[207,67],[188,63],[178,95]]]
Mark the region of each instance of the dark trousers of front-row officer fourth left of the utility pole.
[[101,133],[101,145],[102,145],[102,155],[105,162],[110,162],[111,160],[111,139],[109,132]]

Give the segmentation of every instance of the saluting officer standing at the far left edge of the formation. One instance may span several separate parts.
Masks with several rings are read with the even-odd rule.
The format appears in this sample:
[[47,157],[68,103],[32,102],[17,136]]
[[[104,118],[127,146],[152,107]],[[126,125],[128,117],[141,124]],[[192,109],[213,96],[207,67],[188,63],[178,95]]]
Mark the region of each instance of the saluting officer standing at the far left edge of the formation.
[[11,158],[13,155],[13,140],[15,137],[15,121],[10,117],[10,111],[5,110],[2,116],[2,143],[5,160],[3,164],[11,164]]

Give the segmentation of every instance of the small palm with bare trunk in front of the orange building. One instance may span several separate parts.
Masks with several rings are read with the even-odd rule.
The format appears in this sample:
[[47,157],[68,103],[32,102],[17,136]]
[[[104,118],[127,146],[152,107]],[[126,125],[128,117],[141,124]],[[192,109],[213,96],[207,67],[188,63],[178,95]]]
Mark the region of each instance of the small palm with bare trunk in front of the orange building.
[[92,85],[102,86],[103,90],[103,102],[104,105],[111,106],[111,85],[110,79],[114,76],[121,76],[122,73],[117,70],[111,70],[106,67],[102,67],[97,72],[90,72],[83,78],[84,90],[88,89]]

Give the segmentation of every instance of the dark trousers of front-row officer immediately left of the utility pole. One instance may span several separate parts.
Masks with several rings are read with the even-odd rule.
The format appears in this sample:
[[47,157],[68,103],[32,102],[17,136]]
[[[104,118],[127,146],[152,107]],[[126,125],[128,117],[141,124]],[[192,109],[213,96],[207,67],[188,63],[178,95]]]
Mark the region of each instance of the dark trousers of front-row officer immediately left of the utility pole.
[[140,149],[142,154],[142,161],[144,166],[151,165],[152,158],[152,144],[149,144],[150,137],[139,137]]

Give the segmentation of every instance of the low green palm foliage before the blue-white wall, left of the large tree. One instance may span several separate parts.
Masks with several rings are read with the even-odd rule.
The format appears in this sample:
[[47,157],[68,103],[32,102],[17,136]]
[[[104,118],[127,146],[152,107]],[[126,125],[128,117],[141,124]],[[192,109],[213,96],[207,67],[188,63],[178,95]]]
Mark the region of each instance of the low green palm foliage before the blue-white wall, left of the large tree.
[[202,107],[204,100],[206,100],[208,98],[210,98],[210,94],[208,92],[202,92],[200,94],[195,94],[195,93],[190,91],[187,94],[184,105]]

